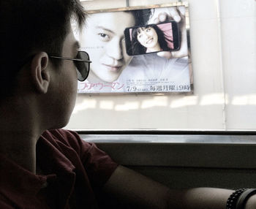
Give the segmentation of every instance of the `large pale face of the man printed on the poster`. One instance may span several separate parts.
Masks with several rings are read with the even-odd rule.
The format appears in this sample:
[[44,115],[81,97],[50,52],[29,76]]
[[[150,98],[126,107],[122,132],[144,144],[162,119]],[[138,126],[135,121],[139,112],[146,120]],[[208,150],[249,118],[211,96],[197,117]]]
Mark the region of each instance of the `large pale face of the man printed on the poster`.
[[135,25],[129,12],[89,16],[81,45],[91,58],[91,72],[105,82],[116,80],[132,57],[125,49],[124,29]]

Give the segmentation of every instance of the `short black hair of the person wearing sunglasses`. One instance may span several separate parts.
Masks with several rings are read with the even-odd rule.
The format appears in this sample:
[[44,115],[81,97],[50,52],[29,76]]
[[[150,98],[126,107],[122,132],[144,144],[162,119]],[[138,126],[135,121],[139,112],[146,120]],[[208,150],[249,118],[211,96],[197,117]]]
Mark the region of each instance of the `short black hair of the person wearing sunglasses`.
[[79,26],[85,21],[79,0],[0,0],[1,98],[12,94],[19,69],[35,53],[61,55],[71,18]]

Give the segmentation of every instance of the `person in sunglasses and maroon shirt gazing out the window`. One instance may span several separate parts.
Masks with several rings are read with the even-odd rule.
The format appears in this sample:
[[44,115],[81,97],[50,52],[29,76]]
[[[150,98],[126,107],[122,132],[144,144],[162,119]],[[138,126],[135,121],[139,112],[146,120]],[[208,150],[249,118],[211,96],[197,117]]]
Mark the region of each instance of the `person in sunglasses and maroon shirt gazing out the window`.
[[0,1],[0,208],[225,208],[232,191],[168,189],[61,129],[89,74],[70,26],[85,14],[78,0]]

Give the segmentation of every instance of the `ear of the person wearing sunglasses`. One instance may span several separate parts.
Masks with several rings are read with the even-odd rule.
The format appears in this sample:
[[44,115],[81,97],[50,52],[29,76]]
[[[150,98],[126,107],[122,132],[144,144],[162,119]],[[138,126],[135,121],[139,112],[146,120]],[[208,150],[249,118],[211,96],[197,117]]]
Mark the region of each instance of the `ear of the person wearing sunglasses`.
[[31,77],[39,93],[45,94],[50,83],[49,57],[45,52],[37,53],[31,61]]

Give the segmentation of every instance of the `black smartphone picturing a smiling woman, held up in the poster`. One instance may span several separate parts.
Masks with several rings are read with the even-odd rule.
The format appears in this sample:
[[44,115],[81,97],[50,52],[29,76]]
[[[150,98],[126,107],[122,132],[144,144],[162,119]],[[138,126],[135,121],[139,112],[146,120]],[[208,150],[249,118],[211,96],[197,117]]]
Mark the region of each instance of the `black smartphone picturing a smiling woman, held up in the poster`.
[[129,56],[173,51],[180,47],[178,25],[173,20],[125,28],[124,37]]

